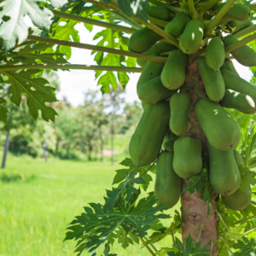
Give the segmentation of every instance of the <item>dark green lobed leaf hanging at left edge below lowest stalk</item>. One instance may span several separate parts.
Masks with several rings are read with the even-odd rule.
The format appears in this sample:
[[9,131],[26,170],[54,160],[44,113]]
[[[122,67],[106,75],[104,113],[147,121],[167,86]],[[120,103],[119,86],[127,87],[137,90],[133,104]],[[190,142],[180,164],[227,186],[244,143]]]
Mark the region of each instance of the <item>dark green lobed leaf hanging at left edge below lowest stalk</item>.
[[18,107],[21,102],[21,94],[27,95],[27,105],[29,112],[33,119],[38,119],[38,111],[42,112],[44,120],[55,120],[57,114],[53,108],[45,105],[46,102],[56,102],[55,88],[45,86],[49,84],[46,79],[33,78],[32,76],[39,73],[40,70],[26,70],[16,72],[1,72],[9,77],[8,82],[11,84],[9,87],[9,94],[11,94],[11,101]]

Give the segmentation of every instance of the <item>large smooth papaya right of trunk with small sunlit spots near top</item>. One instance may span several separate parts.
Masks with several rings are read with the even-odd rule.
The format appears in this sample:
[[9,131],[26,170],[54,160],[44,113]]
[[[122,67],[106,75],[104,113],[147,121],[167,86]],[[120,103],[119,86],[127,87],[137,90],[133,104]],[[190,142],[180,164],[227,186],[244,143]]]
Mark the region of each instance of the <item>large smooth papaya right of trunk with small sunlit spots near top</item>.
[[240,127],[218,103],[201,99],[195,105],[195,115],[213,147],[223,151],[236,148],[241,137]]

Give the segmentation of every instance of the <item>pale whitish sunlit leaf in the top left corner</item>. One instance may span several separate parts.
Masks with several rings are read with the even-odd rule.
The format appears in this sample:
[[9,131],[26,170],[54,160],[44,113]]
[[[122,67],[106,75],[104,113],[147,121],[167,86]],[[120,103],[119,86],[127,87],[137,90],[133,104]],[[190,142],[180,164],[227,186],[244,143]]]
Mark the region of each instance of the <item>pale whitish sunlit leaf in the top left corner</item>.
[[[45,2],[43,0],[42,2]],[[24,16],[28,15],[33,24],[43,30],[50,26],[49,16],[53,16],[49,9],[40,9],[37,0],[4,0],[0,3],[0,19],[8,16],[10,19],[3,22],[0,29],[0,38],[3,38],[3,46],[6,50],[15,47],[26,40],[28,28],[24,23]]]

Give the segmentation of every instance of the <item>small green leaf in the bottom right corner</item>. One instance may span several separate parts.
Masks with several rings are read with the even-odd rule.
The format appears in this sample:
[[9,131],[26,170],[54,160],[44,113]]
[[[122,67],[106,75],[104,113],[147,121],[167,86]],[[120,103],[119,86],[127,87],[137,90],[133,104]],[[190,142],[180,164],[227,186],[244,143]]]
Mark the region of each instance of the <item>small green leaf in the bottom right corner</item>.
[[237,243],[234,244],[234,248],[239,251],[236,252],[235,256],[253,256],[256,255],[256,240],[255,238],[251,238],[249,240],[247,237],[242,237],[243,241],[238,240]]

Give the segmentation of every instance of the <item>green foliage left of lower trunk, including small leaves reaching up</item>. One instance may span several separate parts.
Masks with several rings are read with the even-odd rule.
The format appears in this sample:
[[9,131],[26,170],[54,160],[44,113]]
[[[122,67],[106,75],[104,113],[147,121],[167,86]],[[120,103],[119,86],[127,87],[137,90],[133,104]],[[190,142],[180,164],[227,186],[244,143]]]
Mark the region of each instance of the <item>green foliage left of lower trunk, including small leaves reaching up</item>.
[[[125,160],[127,166],[131,160]],[[138,241],[138,237],[144,237],[151,229],[150,224],[160,218],[169,218],[166,214],[157,212],[165,209],[164,205],[154,207],[154,195],[137,202],[140,189],[135,189],[136,183],[144,183],[143,177],[135,177],[139,168],[130,166],[130,171],[125,177],[125,182],[120,183],[119,189],[107,190],[105,205],[90,203],[90,207],[84,207],[85,213],[76,217],[68,227],[65,240],[79,240],[76,252],[80,255],[84,250],[94,253],[102,243],[113,244],[114,238],[123,247],[128,247],[132,241]],[[129,237],[130,236],[130,237]],[[96,255],[96,254],[95,254]]]

